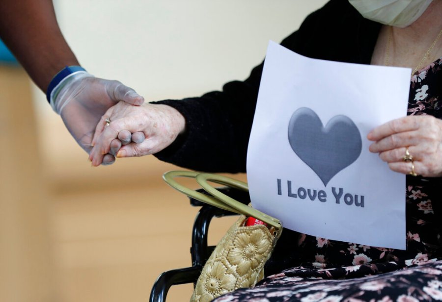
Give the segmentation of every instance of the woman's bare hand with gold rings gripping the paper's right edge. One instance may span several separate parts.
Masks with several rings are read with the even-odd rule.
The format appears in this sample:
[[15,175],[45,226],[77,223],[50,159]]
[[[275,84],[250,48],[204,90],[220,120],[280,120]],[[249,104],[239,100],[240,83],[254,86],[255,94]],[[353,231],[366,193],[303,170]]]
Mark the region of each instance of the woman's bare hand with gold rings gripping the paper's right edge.
[[[391,170],[417,175],[442,176],[442,121],[433,116],[407,116],[374,128],[367,138],[374,141],[370,151],[379,153]],[[413,161],[406,162],[409,150]]]

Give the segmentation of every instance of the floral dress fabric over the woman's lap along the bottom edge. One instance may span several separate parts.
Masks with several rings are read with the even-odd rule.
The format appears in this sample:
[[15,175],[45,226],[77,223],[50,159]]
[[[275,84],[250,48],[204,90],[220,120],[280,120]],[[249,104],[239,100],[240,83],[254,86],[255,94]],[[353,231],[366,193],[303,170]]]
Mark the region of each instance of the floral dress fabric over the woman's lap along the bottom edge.
[[[394,263],[391,263],[394,267]],[[376,270],[376,265],[370,269]],[[332,279],[332,270],[293,268],[270,276],[256,287],[224,295],[216,302],[334,302],[442,300],[442,260],[390,272],[355,278]],[[308,277],[308,275],[311,277]],[[318,275],[318,274],[316,274]],[[352,274],[350,274],[351,276]],[[330,278],[328,278],[330,277]],[[345,276],[344,276],[345,277]]]

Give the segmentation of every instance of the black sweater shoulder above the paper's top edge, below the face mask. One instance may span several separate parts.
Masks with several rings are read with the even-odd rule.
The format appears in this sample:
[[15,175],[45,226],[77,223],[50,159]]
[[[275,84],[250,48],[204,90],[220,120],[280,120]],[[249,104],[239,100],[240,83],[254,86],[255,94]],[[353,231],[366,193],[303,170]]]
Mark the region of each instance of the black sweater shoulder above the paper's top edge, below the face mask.
[[281,45],[312,58],[369,63],[380,28],[348,0],[331,0],[308,15]]

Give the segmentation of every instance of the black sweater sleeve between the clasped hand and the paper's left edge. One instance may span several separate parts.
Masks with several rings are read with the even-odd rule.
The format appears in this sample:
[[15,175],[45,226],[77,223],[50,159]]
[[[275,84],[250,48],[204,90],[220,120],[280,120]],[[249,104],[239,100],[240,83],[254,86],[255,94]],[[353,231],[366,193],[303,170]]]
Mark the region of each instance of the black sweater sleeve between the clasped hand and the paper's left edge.
[[244,82],[200,98],[161,101],[186,119],[186,131],[164,151],[160,160],[206,172],[246,172],[246,155],[262,65]]

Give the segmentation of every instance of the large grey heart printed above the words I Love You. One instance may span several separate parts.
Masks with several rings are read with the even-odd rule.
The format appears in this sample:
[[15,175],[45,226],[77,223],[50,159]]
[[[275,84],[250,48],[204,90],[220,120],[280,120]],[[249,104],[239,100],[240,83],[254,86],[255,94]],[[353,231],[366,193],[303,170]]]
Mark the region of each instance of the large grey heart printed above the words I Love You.
[[293,151],[325,186],[358,159],[362,149],[359,129],[349,117],[336,115],[324,127],[318,115],[306,107],[290,118],[288,139]]

